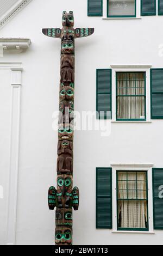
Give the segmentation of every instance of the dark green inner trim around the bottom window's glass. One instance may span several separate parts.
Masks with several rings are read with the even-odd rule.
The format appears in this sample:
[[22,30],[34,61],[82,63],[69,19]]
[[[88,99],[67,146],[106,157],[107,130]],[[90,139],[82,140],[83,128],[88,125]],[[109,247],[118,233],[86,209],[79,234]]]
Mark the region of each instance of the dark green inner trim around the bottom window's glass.
[[[120,172],[120,170],[116,170],[116,193],[117,193],[117,197],[116,197],[116,200],[117,200],[117,231],[149,231],[149,214],[148,214],[148,172],[147,170],[146,171],[143,171],[143,172],[146,172],[146,192],[147,192],[147,198],[146,198],[146,202],[147,202],[147,225],[148,227],[147,228],[118,228],[118,172]],[[124,170],[123,172],[142,172],[142,170],[139,170],[139,171],[135,171],[135,170]],[[137,180],[136,180],[136,183],[137,183]],[[129,199],[130,200],[130,199]],[[136,200],[136,199],[135,199]],[[137,199],[137,200],[141,200],[141,199]]]

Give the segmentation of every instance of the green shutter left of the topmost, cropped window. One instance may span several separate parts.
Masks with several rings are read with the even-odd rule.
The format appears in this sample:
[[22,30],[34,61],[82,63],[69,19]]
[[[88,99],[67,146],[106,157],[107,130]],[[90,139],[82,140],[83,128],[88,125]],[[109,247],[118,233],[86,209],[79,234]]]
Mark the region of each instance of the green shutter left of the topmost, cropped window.
[[103,16],[103,0],[87,0],[87,16]]

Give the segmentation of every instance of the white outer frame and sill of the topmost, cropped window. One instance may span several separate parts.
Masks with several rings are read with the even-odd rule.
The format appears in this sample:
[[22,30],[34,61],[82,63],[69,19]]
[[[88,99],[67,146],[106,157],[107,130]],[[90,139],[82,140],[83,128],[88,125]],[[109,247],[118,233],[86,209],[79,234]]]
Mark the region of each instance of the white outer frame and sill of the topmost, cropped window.
[[107,1],[103,1],[103,20],[130,20],[130,19],[141,19],[141,0],[136,0],[136,17],[107,17]]

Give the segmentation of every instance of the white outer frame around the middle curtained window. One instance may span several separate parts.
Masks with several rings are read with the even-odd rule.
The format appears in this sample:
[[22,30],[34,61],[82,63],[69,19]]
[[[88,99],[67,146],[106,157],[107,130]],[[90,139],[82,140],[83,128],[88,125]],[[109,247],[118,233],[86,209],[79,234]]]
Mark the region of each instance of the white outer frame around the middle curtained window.
[[[113,123],[151,123],[150,69],[152,65],[111,65],[112,69],[112,120]],[[146,120],[116,120],[116,72],[146,72]]]

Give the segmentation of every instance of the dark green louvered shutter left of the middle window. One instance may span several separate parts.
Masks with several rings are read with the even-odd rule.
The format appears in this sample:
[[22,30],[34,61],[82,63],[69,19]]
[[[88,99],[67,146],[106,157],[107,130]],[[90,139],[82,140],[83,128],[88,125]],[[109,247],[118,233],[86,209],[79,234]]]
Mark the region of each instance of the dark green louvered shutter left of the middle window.
[[97,69],[96,87],[97,118],[111,119],[111,69]]

